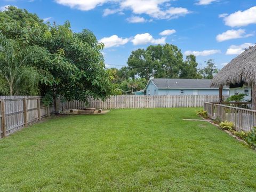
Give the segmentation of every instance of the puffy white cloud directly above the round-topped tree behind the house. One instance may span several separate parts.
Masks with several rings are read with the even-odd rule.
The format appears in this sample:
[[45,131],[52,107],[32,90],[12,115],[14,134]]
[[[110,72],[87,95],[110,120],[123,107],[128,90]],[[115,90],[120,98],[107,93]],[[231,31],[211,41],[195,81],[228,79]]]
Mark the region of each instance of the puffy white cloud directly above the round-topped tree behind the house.
[[149,33],[137,34],[132,39],[133,45],[144,45],[144,44],[165,44],[166,37],[154,39]]

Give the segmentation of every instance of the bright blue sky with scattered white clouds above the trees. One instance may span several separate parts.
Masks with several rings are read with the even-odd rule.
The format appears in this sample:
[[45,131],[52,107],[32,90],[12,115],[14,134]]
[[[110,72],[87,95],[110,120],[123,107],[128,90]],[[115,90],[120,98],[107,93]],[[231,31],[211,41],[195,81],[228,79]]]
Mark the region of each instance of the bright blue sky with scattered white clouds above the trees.
[[199,67],[214,59],[218,68],[256,43],[255,0],[1,0],[40,18],[93,31],[106,64],[126,65],[131,51],[170,43],[195,54]]

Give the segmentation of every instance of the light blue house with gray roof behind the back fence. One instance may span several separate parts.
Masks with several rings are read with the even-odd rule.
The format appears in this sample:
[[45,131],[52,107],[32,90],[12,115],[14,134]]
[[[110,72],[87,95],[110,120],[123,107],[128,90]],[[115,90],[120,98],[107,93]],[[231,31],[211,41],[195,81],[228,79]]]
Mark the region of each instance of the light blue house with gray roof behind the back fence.
[[[147,95],[218,95],[219,87],[210,87],[211,79],[150,79],[145,87]],[[223,88],[229,94],[229,88]]]

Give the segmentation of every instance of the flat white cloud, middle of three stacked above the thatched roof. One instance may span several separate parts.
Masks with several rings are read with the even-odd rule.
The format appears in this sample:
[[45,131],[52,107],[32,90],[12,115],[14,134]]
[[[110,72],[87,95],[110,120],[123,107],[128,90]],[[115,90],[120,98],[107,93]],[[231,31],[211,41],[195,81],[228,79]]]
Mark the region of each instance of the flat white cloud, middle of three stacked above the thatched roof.
[[229,39],[245,38],[253,36],[253,34],[246,34],[244,29],[231,29],[226,32],[217,35],[216,39],[218,42],[227,41]]

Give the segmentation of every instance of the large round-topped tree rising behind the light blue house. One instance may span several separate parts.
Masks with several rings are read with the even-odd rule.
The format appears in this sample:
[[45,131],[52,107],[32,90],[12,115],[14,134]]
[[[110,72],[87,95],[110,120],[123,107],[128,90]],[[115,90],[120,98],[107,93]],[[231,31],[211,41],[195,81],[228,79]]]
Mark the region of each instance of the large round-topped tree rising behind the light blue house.
[[128,67],[133,70],[131,77],[156,78],[200,78],[196,57],[187,56],[183,61],[181,50],[171,44],[150,45],[146,50],[132,51]]

